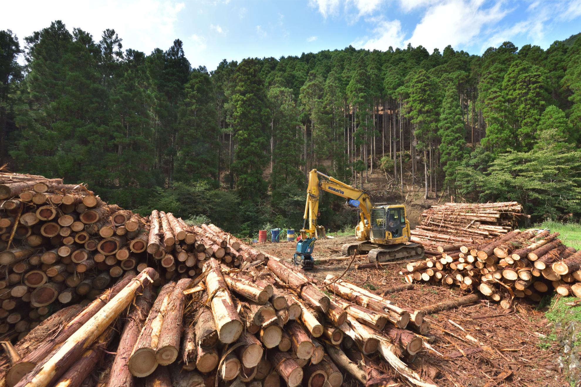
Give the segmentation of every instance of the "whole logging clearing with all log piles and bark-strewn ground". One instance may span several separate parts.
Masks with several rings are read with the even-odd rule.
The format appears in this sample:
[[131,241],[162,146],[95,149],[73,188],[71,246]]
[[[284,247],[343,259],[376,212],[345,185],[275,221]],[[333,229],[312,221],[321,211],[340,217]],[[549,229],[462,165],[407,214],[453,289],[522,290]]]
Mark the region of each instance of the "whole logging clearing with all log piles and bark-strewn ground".
[[[322,239],[303,274],[292,241],[248,244],[62,179],[0,178],[5,385],[559,386],[576,374],[553,340],[578,313],[581,255],[558,233],[511,231],[518,203],[429,208],[413,230],[419,261],[336,258],[354,237]],[[487,225],[457,225],[450,208]],[[448,236],[421,228],[436,218]],[[553,288],[565,314],[547,323]]]

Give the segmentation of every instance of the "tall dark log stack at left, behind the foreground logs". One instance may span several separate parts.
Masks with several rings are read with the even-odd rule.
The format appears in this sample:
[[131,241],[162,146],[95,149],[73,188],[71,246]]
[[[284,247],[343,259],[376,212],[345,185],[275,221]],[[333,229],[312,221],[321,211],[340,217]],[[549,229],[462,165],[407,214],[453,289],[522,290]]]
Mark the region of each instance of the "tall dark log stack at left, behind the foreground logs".
[[155,267],[155,285],[263,254],[214,225],[171,213],[142,218],[83,185],[0,173],[0,338],[21,338],[61,305],[87,305],[127,270]]

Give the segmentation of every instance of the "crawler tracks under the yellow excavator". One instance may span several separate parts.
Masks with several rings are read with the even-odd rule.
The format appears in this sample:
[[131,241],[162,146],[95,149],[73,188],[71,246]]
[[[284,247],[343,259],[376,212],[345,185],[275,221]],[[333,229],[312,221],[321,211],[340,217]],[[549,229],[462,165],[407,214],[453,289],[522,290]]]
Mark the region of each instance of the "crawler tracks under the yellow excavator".
[[418,243],[396,245],[373,244],[370,242],[346,243],[341,251],[345,255],[366,254],[371,262],[388,262],[394,259],[424,258],[424,247]]

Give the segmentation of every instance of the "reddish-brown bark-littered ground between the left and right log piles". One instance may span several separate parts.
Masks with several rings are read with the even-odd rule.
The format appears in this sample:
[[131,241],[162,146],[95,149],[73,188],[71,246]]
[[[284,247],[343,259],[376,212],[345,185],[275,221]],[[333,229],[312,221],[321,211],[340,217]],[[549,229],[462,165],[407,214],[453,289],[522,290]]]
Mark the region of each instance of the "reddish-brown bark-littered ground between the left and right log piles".
[[[352,240],[354,237],[319,240],[313,256],[315,260],[341,256],[341,245]],[[295,246],[294,242],[284,242],[260,244],[259,248],[290,263]],[[362,256],[357,261],[364,263],[367,258]],[[322,283],[327,274],[339,276],[345,272],[348,263],[318,264],[306,274]],[[351,267],[343,279],[381,294],[382,290],[404,282],[399,272],[406,263],[391,262],[384,270]],[[416,284],[413,290],[389,294],[389,298],[400,306],[421,308],[462,295],[464,292],[458,288]],[[431,324],[435,339],[432,349],[415,358],[413,367],[424,376],[433,376],[436,368],[439,375],[433,380],[439,386],[569,385],[557,364],[558,346],[546,338],[551,325],[543,312],[535,310],[535,305],[516,301],[513,310],[504,310],[494,302],[481,300],[425,319]],[[394,379],[407,385],[395,375]],[[357,382],[346,379],[344,385],[356,386]]]

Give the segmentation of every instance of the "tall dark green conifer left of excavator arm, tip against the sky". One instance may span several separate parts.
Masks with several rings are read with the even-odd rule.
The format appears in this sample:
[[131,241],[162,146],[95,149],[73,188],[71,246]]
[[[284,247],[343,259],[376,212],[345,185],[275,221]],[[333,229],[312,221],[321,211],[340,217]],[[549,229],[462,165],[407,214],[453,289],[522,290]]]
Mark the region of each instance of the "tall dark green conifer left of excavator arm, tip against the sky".
[[267,190],[262,173],[268,149],[267,123],[270,122],[259,61],[243,60],[234,72],[234,82],[231,125],[236,142],[233,165],[238,178],[236,187],[243,200],[255,202]]

